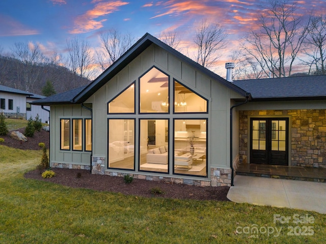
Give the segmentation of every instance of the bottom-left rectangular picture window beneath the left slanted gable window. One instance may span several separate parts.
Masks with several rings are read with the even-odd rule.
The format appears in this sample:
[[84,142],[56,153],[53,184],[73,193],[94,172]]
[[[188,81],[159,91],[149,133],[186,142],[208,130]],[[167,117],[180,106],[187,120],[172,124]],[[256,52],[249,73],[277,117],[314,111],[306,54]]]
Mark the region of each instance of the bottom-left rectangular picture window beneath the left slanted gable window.
[[134,169],[134,119],[108,119],[108,167]]

